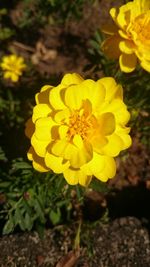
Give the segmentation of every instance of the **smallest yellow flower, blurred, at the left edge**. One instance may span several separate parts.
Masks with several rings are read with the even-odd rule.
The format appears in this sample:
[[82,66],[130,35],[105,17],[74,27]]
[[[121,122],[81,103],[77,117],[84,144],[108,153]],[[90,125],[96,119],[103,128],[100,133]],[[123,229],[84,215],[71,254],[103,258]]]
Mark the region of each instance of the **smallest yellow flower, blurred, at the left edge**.
[[4,56],[0,66],[4,72],[4,79],[10,78],[12,82],[17,82],[19,76],[22,75],[23,70],[26,68],[24,59],[13,54]]

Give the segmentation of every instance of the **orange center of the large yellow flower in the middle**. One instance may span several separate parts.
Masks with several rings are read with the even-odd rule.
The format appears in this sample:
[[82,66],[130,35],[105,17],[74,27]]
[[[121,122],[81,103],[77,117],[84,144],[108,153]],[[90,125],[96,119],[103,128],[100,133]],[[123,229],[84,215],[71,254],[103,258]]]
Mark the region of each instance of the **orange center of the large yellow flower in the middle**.
[[86,116],[83,110],[74,111],[69,118],[69,128],[67,132],[69,140],[71,140],[76,134],[79,134],[82,139],[85,139],[91,126],[91,116]]

